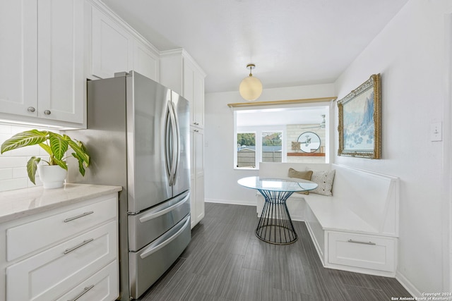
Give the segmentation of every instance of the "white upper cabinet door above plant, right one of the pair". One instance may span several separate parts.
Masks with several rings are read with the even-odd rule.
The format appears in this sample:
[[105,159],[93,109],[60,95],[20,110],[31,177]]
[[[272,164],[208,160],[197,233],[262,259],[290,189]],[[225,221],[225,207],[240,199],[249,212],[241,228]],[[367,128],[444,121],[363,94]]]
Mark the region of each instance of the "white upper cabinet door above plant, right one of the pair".
[[83,123],[83,2],[38,1],[40,118]]

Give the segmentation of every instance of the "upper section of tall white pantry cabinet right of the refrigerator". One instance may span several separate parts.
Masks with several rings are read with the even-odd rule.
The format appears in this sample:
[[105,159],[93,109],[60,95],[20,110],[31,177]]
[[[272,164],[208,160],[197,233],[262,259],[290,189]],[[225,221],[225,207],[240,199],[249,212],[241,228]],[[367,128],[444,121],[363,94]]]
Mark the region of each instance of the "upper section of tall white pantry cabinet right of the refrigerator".
[[190,125],[204,127],[204,78],[206,73],[184,49],[162,51],[160,82],[190,102]]

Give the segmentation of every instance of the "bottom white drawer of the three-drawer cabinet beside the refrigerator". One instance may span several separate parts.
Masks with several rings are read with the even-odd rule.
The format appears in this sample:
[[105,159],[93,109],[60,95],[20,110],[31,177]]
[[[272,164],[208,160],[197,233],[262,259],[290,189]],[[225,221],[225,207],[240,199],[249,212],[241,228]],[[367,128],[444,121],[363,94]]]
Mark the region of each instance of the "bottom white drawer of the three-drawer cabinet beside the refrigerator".
[[111,301],[119,296],[118,262],[115,260],[77,285],[57,301]]

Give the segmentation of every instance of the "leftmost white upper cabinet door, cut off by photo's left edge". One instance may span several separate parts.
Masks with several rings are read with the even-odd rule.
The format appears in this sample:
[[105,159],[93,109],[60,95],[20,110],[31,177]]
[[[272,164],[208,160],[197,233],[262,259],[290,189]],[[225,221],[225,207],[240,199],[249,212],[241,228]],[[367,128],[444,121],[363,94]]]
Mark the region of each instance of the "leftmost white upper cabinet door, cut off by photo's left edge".
[[37,116],[36,27],[36,0],[0,1],[1,113]]

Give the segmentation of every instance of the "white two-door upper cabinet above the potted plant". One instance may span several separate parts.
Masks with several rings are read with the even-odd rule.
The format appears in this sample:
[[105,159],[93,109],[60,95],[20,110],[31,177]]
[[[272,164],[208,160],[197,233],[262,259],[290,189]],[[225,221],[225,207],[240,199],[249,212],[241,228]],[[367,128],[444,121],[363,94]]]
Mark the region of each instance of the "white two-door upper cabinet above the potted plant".
[[0,41],[0,118],[83,127],[83,1],[0,1]]

